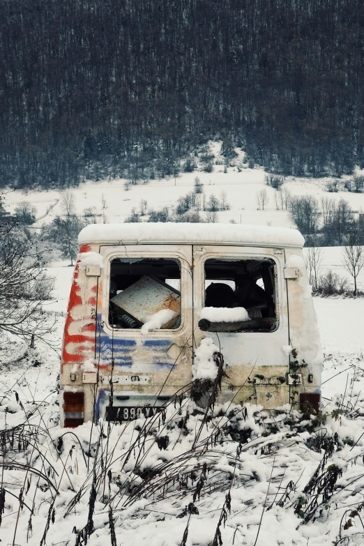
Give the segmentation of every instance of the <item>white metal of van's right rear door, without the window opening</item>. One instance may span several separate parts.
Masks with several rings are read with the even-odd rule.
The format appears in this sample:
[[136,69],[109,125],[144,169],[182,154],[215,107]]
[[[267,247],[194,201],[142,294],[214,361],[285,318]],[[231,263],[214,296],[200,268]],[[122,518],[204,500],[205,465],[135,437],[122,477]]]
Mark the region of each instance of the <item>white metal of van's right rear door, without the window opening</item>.
[[[199,289],[194,291],[194,326],[197,346],[206,334],[220,347],[227,365],[229,380],[234,385],[234,402],[250,401],[275,406],[289,399],[288,386],[282,387],[289,367],[289,355],[284,350],[289,345],[287,292],[283,270],[285,253],[282,248],[259,248],[229,245],[195,245],[193,247],[194,279]],[[278,326],[275,331],[218,332],[199,330],[198,322],[204,306],[204,264],[208,259],[271,259],[275,263],[275,303]],[[257,389],[257,386],[259,388]],[[231,393],[226,393],[231,397]]]

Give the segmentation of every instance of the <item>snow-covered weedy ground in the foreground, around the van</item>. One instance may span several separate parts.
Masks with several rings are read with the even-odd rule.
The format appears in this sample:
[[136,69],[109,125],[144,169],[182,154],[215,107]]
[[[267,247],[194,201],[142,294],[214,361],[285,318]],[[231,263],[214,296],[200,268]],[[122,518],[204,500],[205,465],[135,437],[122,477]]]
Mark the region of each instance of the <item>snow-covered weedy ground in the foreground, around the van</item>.
[[[57,298],[51,311],[58,321],[60,343],[72,268],[60,262],[50,268],[50,273],[55,276]],[[219,407],[212,420],[202,427],[200,448],[197,446],[188,460],[184,454],[190,450],[196,431],[202,425],[202,415],[193,416],[193,406],[185,405],[181,409],[169,408],[168,430],[167,425],[154,423],[146,434],[140,433],[142,439],[140,435],[138,439],[137,431],[130,425],[126,430],[124,426],[115,425],[110,434],[103,437],[100,427],[93,427],[91,431],[88,423],[74,431],[84,454],[73,434],[63,437],[61,445],[58,439],[66,431],[57,425],[59,356],[49,347],[36,347],[33,351],[28,349],[22,357],[19,349],[14,353],[17,362],[10,362],[8,358],[7,363],[1,364],[0,428],[19,426],[13,447],[6,454],[1,478],[6,490],[1,541],[9,545],[38,546],[49,527],[42,544],[86,544],[82,536],[85,537],[85,529],[90,528],[86,524],[95,476],[97,492],[93,513],[91,511],[93,532],[87,541],[89,546],[121,546],[143,541],[151,546],[208,546],[214,540],[216,529],[220,530],[224,545],[253,546],[258,530],[257,546],[329,545],[340,539],[340,532],[343,540],[337,544],[349,544],[344,541],[349,537],[352,544],[363,544],[364,529],[359,517],[364,486],[362,304],[359,299],[314,298],[314,305],[327,355],[323,377],[323,407],[327,414],[324,423],[307,420],[299,423],[295,411],[289,407],[273,415],[248,404],[243,416],[241,409],[232,406],[229,416],[235,429],[251,429],[248,443],[239,448],[234,437],[227,434],[224,426],[227,419],[220,416]],[[192,411],[188,418],[187,409]],[[186,424],[181,434],[179,423],[183,419]],[[23,423],[26,423],[24,436]],[[39,432],[39,425],[43,432]],[[217,439],[216,432],[219,432]],[[164,450],[155,439],[167,435],[169,446]],[[208,443],[205,453],[208,437],[212,443]],[[26,438],[30,441],[28,446]],[[144,439],[145,447],[139,447]],[[328,448],[330,439],[333,439],[333,453]],[[237,448],[241,449],[238,457]],[[311,484],[311,492],[303,494],[303,490],[326,457],[325,449],[327,460],[324,460],[324,468],[319,469],[319,475],[328,480],[335,471],[339,474],[342,471],[342,477],[338,476],[326,500],[318,496],[317,519],[313,522],[311,518],[304,524],[317,490],[314,484]],[[126,453],[130,453],[130,459],[125,464]],[[140,498],[132,489],[143,483],[133,471],[138,456],[141,470],[158,466],[162,471],[161,475],[147,478],[150,490],[141,490]],[[86,464],[89,462],[89,471],[85,460]],[[29,462],[30,469],[21,466]],[[205,472],[204,462],[208,469]],[[109,470],[111,481],[107,475]],[[171,474],[174,480],[165,483],[163,480]],[[199,488],[201,491],[197,494]],[[21,492],[22,509],[17,498]],[[107,499],[113,497],[110,513]],[[303,498],[306,503],[301,506],[300,516],[295,508]],[[190,506],[191,514],[185,506]],[[193,513],[196,508],[198,515]],[[348,510],[346,515],[345,510]],[[349,520],[352,526],[347,523]],[[218,533],[216,540],[213,544],[218,545]]]

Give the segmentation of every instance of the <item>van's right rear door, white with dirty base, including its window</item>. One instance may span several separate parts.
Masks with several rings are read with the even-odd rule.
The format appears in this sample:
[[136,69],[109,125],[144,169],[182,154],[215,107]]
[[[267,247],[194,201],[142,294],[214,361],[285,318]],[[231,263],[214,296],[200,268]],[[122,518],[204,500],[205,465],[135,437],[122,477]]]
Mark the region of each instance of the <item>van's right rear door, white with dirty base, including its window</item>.
[[[280,248],[193,247],[195,344],[210,336],[220,348],[229,376],[225,397],[234,402],[289,402],[284,266]],[[242,309],[238,321],[229,321],[229,310],[239,314],[241,308],[246,319]]]

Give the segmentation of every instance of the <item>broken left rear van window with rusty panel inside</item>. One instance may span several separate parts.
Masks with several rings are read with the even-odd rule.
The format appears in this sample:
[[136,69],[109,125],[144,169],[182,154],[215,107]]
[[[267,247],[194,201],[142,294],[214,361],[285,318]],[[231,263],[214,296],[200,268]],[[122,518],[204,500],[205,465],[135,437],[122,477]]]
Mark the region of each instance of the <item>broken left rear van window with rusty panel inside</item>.
[[179,328],[179,260],[113,259],[110,264],[109,324],[112,328],[141,328],[142,332]]

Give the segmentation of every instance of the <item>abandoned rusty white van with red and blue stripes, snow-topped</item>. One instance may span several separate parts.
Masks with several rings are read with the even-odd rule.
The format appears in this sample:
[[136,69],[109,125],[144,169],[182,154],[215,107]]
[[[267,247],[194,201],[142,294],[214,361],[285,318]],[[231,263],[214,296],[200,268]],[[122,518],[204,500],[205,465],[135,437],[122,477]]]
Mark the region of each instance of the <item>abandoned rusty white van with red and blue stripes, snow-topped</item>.
[[156,414],[219,348],[221,400],[319,410],[322,356],[296,229],[89,225],[61,358],[61,425]]

